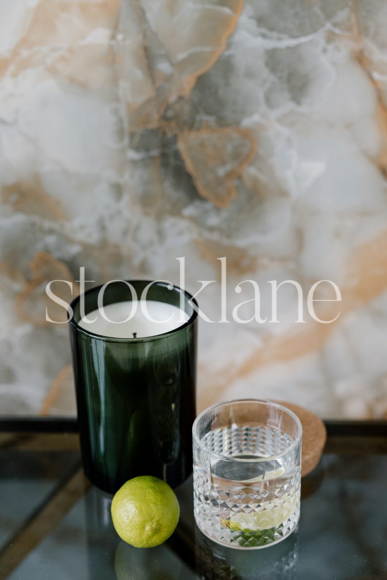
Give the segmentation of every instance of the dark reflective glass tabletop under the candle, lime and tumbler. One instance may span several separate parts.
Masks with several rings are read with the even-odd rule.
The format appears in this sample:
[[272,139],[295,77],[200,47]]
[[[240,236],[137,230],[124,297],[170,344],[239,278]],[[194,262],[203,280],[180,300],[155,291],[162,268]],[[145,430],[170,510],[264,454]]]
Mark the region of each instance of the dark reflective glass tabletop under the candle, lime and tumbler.
[[302,480],[298,530],[251,551],[223,548],[196,528],[191,478],[176,490],[181,515],[171,538],[133,548],[114,531],[112,496],[84,477],[77,434],[3,433],[0,578],[387,578],[387,428],[380,427],[331,425],[319,466]]

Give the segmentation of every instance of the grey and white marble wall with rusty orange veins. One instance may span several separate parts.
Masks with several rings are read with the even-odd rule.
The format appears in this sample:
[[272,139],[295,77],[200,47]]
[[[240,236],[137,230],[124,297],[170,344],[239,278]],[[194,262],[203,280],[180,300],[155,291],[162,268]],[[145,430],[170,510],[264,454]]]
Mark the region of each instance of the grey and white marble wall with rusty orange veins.
[[292,278],[341,315],[295,324],[288,285],[279,324],[202,324],[200,408],[387,416],[386,25],[384,0],[1,3],[1,413],[74,413],[46,282],[178,282],[186,256],[196,292],[226,256],[229,312]]

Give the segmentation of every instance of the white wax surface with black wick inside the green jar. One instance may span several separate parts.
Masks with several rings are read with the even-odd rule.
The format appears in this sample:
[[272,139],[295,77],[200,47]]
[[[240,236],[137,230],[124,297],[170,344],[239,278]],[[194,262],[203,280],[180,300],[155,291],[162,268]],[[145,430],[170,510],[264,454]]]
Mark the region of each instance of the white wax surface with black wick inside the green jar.
[[[93,322],[88,322],[85,317],[82,317],[78,324],[81,328],[100,336],[145,338],[175,330],[185,324],[189,318],[184,310],[156,300],[138,300],[137,308],[131,316],[134,309],[135,303],[129,300],[114,302],[104,306],[103,311],[108,320],[105,320],[97,309],[86,314],[86,318]],[[126,320],[129,316],[130,320]]]

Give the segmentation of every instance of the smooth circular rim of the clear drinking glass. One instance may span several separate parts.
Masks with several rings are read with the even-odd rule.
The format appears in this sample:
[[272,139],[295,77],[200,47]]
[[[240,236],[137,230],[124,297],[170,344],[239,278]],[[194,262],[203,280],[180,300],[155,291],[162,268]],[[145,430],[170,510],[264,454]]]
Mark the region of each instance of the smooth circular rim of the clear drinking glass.
[[[202,419],[202,417],[204,417],[205,415],[207,415],[211,411],[215,411],[216,409],[219,409],[220,407],[224,407],[225,405],[230,405],[230,404],[234,404],[234,403],[247,403],[247,404],[260,403],[260,404],[266,405],[267,407],[276,407],[277,409],[280,409],[280,411],[284,411],[287,415],[289,415],[294,420],[296,426],[298,427],[298,432],[297,432],[297,436],[296,436],[295,440],[292,441],[292,443],[286,449],[284,449],[284,451],[281,451],[280,453],[276,453],[274,455],[265,456],[265,457],[256,457],[254,459],[233,457],[232,455],[221,455],[219,453],[215,453],[214,451],[211,451],[211,449],[209,449],[207,447],[207,445],[202,443],[202,440],[200,439],[200,437],[198,435],[198,425],[199,425],[200,419]],[[221,403],[216,403],[215,405],[211,405],[211,407],[207,407],[207,409],[204,409],[204,411],[202,411],[193,422],[192,438],[193,438],[193,441],[196,443],[196,445],[198,445],[198,447],[200,447],[203,451],[205,451],[209,455],[216,457],[216,459],[222,459],[222,461],[229,461],[229,462],[261,463],[264,461],[273,461],[274,459],[279,459],[280,457],[283,457],[284,455],[286,455],[288,452],[292,451],[292,449],[294,449],[296,447],[296,445],[298,445],[301,441],[302,424],[301,424],[301,421],[299,420],[298,416],[293,411],[291,411],[287,407],[284,407],[284,405],[280,405],[279,403],[274,403],[274,401],[270,401],[268,399],[254,399],[254,398],[231,399],[229,401],[222,401]]]

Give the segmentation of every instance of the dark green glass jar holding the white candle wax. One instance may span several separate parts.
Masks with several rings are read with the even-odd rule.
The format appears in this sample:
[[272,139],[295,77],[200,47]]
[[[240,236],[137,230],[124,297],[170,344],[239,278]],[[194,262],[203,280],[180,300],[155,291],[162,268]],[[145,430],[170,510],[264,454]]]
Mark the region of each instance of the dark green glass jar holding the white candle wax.
[[70,339],[86,476],[111,493],[139,475],[154,475],[176,487],[192,471],[197,303],[189,293],[160,281],[113,281],[105,286],[100,302],[104,307],[140,300],[148,287],[147,301],[180,307],[187,320],[152,336],[112,338],[81,326],[82,317],[100,306],[102,287],[71,303]]

